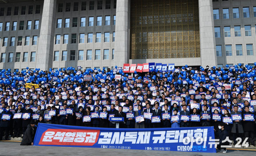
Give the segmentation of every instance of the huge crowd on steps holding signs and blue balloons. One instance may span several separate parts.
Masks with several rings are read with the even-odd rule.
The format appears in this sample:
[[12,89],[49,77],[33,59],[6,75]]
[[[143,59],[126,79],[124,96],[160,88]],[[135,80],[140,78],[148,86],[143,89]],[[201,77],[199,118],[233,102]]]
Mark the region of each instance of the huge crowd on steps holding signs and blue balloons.
[[[254,67],[239,63],[192,69],[186,65],[170,72],[150,68],[144,73],[124,73],[115,68],[0,71],[0,140],[24,135],[27,128],[35,133],[38,123],[115,128],[109,118],[124,117],[120,128],[214,126],[216,138],[225,127],[234,145],[242,134],[255,145],[255,120],[244,119],[246,114],[255,116]],[[141,115],[143,118],[136,121]],[[182,120],[182,115],[200,118]],[[220,119],[204,119],[205,115]],[[231,115],[242,118],[222,121]],[[156,116],[159,119],[153,122]]]

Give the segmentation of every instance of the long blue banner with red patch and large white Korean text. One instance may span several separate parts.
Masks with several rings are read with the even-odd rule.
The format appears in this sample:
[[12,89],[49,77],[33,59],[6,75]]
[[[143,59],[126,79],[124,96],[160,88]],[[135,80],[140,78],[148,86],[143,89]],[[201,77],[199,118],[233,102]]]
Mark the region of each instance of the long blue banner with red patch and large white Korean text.
[[116,129],[38,123],[37,146],[216,152],[213,127]]

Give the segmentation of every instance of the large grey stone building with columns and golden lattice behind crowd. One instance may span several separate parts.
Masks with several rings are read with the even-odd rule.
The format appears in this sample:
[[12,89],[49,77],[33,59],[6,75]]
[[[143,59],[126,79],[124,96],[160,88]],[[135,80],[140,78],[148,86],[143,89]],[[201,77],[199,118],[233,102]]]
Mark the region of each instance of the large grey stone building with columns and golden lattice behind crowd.
[[0,69],[256,62],[256,0],[0,0]]

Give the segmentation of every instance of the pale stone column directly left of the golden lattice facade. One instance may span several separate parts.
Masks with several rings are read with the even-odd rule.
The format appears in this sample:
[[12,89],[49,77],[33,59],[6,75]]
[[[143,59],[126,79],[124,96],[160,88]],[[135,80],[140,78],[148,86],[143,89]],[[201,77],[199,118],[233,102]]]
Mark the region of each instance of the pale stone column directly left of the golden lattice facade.
[[117,0],[114,66],[123,67],[129,60],[129,0]]

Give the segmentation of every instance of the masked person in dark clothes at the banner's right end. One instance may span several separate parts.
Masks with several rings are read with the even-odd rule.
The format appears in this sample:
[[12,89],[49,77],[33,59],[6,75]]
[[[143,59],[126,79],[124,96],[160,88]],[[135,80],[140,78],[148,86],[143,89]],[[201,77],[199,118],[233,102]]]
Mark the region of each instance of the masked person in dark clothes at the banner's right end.
[[[218,125],[218,138],[219,138],[219,144],[217,145],[217,149],[220,150],[220,152],[223,152],[223,153],[226,153],[227,152],[227,149],[226,148],[222,148],[221,146],[225,146],[225,145],[229,145],[229,142],[226,141],[226,142],[222,142],[226,139],[226,137],[228,137],[228,132],[227,130],[225,129],[225,126],[226,126],[226,123],[220,123]],[[214,129],[215,130],[215,129]]]

